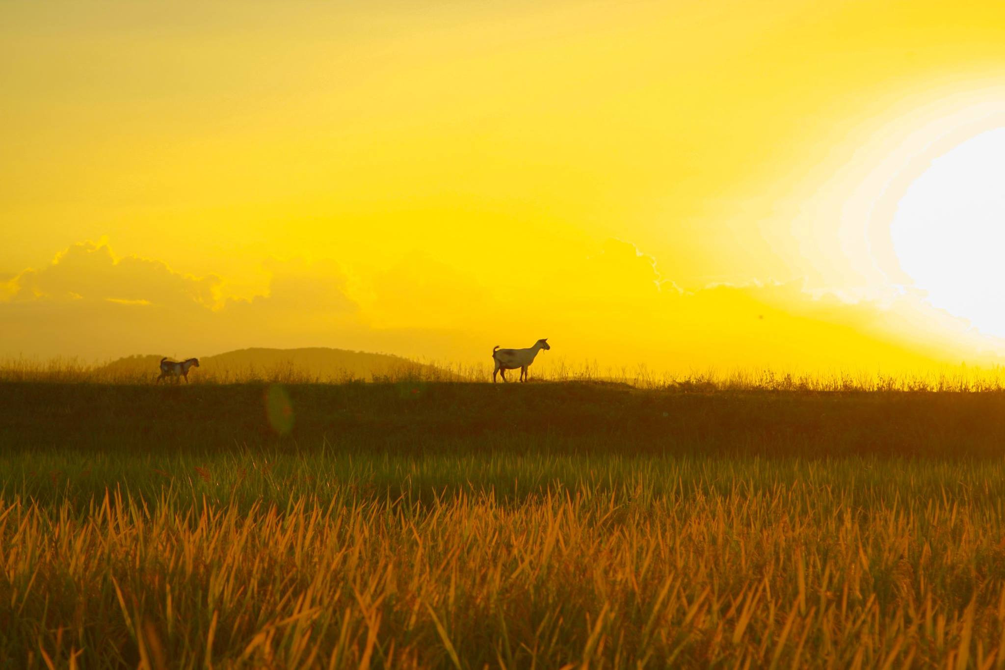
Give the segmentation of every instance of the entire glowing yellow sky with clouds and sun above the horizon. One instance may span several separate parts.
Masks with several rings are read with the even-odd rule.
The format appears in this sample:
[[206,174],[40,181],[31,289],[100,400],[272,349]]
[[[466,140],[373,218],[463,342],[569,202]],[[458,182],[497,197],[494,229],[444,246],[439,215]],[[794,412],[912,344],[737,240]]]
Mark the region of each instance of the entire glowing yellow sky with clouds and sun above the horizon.
[[997,365],[1003,44],[1000,2],[4,2],[0,357]]

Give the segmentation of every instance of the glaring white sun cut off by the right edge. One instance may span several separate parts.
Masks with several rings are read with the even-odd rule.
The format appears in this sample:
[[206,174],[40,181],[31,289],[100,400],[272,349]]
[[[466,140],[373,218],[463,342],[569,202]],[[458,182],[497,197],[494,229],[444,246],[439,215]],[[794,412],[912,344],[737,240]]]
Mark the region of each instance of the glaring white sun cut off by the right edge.
[[1005,337],[1005,128],[933,160],[897,203],[890,236],[932,305]]

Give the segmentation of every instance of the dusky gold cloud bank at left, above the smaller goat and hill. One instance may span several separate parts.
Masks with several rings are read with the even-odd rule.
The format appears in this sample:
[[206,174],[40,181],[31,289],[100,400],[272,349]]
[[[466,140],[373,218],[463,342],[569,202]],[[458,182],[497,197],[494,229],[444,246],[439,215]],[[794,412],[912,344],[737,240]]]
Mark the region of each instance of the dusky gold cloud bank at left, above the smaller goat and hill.
[[6,355],[118,356],[138,352],[284,346],[300,336],[352,325],[357,304],[331,261],[264,263],[268,292],[249,300],[221,294],[215,274],[185,274],[167,263],[117,256],[80,242],[0,290],[0,352]]

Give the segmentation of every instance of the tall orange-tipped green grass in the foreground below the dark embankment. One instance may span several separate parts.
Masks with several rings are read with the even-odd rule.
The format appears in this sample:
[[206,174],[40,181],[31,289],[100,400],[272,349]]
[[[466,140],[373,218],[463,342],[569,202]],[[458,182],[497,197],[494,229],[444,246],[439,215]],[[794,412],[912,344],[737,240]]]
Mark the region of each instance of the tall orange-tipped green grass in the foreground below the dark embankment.
[[1000,462],[0,467],[12,667],[1005,664]]

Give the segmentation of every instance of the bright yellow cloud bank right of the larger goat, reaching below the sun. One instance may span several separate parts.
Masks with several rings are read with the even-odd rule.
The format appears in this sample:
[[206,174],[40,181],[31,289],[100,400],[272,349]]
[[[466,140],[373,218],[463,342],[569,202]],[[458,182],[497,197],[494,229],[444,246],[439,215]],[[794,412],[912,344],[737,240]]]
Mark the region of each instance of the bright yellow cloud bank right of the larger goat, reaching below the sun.
[[[1005,343],[903,291],[880,298],[809,291],[788,281],[719,283],[681,291],[634,244],[609,239],[535,296],[542,331],[573,359],[661,368],[906,370],[967,360],[1001,362]],[[565,340],[566,342],[562,342]]]

